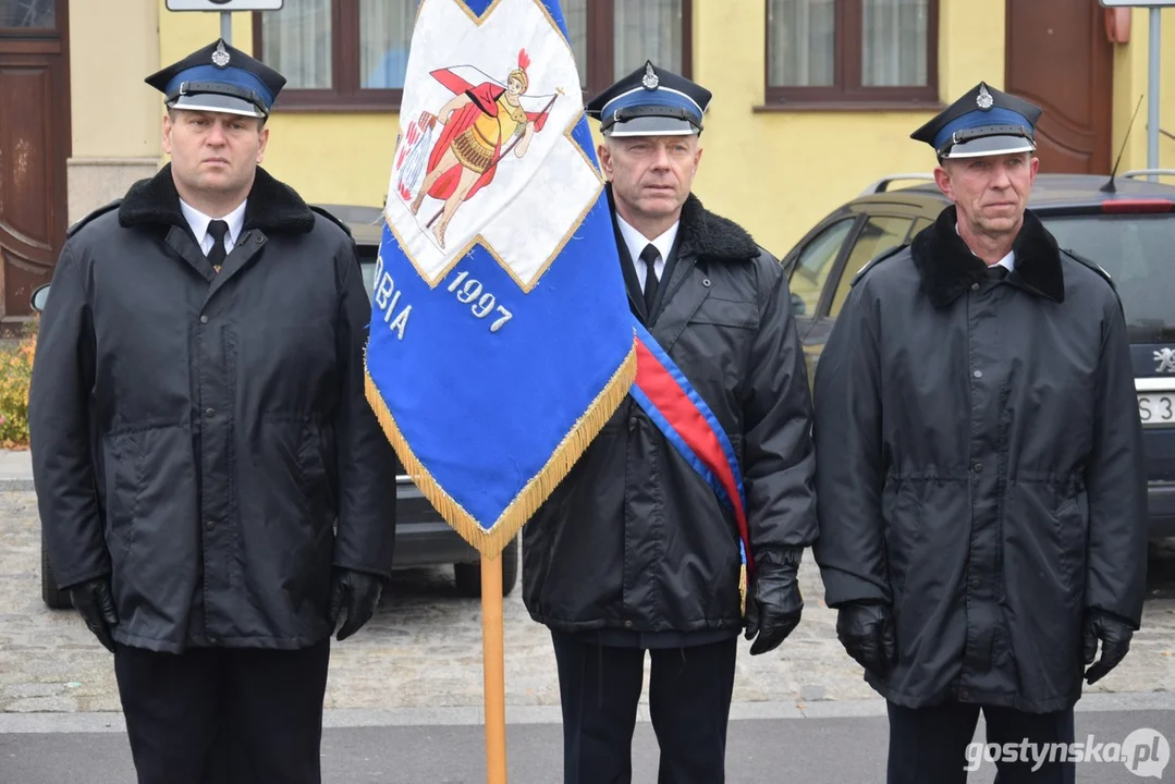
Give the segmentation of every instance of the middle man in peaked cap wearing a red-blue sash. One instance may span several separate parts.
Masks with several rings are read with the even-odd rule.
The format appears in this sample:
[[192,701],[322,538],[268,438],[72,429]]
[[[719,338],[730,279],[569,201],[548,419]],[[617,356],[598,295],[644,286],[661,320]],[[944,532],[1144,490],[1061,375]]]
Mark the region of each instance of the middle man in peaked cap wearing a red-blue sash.
[[588,114],[633,316],[732,444],[745,538],[680,434],[631,396],[528,522],[524,601],[551,629],[565,784],[632,780],[646,651],[658,780],[725,780],[738,636],[774,651],[804,605],[797,570],[817,525],[805,364],[778,261],[690,193],[710,98],[646,62]]

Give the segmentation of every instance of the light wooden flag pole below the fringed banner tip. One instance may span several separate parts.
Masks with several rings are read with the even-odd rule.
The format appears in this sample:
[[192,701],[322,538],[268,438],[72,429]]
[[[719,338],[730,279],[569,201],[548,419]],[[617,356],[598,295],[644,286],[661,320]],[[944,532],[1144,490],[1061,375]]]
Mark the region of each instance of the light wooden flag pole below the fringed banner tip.
[[502,555],[482,556],[482,669],[485,677],[485,780],[506,784],[506,689],[502,638]]

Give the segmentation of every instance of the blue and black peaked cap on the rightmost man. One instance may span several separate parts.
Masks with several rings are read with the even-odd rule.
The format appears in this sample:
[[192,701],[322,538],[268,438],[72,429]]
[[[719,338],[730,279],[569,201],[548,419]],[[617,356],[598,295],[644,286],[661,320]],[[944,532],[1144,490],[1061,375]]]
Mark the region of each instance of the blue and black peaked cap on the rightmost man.
[[1039,106],[979,82],[909,135],[934,148],[940,160],[1007,155],[1036,149]]

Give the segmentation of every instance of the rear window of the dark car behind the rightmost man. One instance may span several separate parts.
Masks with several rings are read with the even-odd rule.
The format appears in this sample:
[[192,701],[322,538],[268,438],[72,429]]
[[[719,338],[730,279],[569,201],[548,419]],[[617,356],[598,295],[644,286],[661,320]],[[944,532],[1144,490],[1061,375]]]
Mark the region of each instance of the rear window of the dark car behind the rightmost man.
[[1175,214],[1043,216],[1056,243],[1109,273],[1135,340],[1175,336]]

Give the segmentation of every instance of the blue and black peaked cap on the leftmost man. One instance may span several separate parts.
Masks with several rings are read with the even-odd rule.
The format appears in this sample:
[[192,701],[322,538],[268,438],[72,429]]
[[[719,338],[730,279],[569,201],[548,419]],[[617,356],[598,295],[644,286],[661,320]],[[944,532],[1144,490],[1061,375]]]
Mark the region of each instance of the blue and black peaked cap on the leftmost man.
[[163,93],[169,109],[267,118],[286,76],[216,39],[145,79]]

